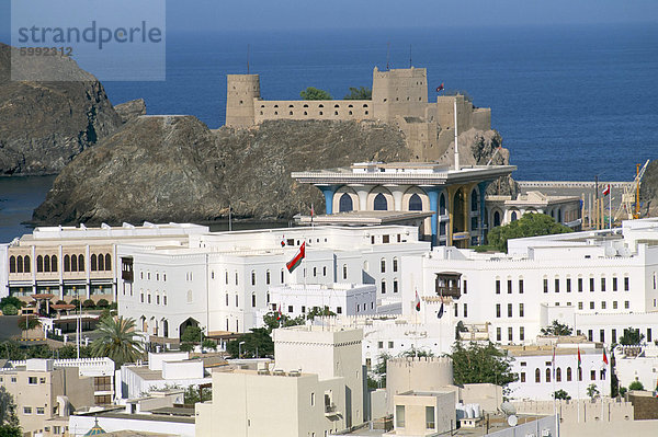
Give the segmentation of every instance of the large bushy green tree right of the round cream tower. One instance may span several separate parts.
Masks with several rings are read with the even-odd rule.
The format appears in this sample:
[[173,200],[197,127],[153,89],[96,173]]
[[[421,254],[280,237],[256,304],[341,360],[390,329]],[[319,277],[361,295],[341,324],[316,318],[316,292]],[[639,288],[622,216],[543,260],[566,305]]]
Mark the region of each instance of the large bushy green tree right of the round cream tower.
[[504,387],[518,379],[512,372],[511,360],[507,354],[489,342],[480,345],[470,342],[464,345],[456,341],[452,354],[455,384],[489,382]]

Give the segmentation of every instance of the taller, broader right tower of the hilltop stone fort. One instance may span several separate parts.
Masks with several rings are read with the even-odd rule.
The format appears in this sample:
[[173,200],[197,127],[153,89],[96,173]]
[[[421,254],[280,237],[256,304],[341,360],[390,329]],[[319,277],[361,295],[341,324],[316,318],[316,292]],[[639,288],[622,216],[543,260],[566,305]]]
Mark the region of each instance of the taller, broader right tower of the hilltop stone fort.
[[400,68],[373,70],[374,117],[393,122],[402,117],[424,117],[428,105],[428,70]]

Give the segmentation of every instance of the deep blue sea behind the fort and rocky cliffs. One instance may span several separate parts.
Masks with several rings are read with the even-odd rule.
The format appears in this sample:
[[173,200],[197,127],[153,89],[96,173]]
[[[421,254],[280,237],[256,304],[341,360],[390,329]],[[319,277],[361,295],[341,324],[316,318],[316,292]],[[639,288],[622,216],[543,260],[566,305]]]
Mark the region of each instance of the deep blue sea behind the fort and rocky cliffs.
[[[259,73],[263,99],[299,99],[307,87],[342,99],[371,87],[375,66],[410,65],[428,69],[430,100],[444,83],[491,108],[517,180],[629,181],[637,163],[658,158],[655,23],[169,32],[166,81],[103,84],[113,104],[141,97],[149,114],[192,114],[217,128],[227,73]],[[22,222],[52,182],[0,177],[0,242],[27,231]]]

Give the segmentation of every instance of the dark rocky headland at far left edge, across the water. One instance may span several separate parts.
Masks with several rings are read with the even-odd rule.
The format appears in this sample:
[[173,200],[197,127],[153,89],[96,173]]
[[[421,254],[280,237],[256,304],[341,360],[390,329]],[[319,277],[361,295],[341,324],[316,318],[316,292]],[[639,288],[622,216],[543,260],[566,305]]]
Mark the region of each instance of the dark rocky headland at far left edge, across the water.
[[33,57],[21,67],[70,81],[12,81],[11,50],[0,43],[0,174],[57,173],[121,126],[101,83],[72,59]]

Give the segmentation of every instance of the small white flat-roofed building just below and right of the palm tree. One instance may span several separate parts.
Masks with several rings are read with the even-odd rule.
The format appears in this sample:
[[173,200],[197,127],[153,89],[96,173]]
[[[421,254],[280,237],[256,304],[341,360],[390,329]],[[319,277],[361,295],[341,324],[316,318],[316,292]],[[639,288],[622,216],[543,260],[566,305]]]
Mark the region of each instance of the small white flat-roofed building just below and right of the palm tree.
[[121,398],[134,399],[145,393],[212,382],[203,360],[190,359],[186,352],[148,354],[148,365],[121,367]]

